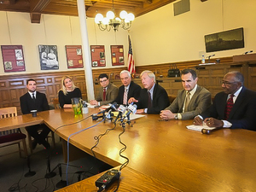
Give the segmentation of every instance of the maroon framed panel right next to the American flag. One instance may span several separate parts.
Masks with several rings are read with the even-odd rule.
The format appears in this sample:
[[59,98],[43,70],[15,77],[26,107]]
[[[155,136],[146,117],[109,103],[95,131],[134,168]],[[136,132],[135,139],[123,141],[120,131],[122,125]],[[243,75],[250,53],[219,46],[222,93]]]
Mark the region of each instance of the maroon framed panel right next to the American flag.
[[123,66],[124,62],[124,46],[110,45],[112,66]]

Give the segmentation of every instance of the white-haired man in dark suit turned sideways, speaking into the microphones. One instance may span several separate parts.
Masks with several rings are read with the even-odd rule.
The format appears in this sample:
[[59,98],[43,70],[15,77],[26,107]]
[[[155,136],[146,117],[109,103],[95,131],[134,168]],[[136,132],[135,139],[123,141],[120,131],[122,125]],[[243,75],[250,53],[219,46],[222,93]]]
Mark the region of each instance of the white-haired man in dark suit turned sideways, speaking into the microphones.
[[137,102],[137,113],[159,114],[170,102],[166,90],[155,84],[155,76],[151,71],[143,71],[140,75],[144,89],[138,98],[131,97],[128,103]]

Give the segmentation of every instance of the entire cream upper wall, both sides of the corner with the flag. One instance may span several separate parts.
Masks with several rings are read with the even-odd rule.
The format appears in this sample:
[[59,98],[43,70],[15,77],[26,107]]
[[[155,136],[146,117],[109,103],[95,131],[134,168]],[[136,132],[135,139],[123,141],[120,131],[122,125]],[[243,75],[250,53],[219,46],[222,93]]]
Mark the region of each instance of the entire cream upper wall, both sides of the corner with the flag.
[[[173,15],[173,3],[137,17],[131,26],[131,41],[137,66],[200,59],[205,50],[204,36],[244,27],[245,48],[207,53],[215,58],[256,51],[255,0],[190,0],[190,11]],[[0,11],[0,44],[23,45],[26,72],[40,70],[38,44],[58,46],[59,71],[67,69],[65,45],[81,44],[79,17],[42,15],[40,24],[32,24],[29,14]],[[128,32],[102,32],[93,18],[87,19],[90,45],[105,45],[107,67],[112,67],[110,45],[124,45],[125,66],[128,51]],[[0,53],[0,74],[4,73]],[[102,67],[106,68],[106,67]],[[47,71],[48,72],[48,71]]]

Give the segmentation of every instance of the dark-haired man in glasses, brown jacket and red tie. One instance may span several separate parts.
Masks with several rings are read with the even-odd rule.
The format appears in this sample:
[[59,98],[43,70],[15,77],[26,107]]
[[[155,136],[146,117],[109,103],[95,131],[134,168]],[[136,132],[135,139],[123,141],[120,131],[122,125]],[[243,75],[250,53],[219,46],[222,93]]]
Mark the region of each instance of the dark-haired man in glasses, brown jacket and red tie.
[[100,74],[99,79],[102,87],[99,90],[99,95],[96,97],[96,100],[90,100],[91,105],[106,105],[113,102],[118,95],[119,90],[117,86],[109,82],[108,75],[106,73]]

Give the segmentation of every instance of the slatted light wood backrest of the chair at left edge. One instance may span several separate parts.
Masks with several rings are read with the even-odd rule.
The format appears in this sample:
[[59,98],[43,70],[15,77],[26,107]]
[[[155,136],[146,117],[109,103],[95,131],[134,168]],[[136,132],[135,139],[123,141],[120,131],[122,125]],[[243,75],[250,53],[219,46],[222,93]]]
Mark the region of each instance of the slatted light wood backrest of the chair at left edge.
[[[17,116],[17,108],[10,107],[10,108],[0,108],[0,119],[3,118],[10,118]],[[0,131],[0,136],[8,135],[10,133],[20,132],[19,129],[9,130],[9,131]]]

